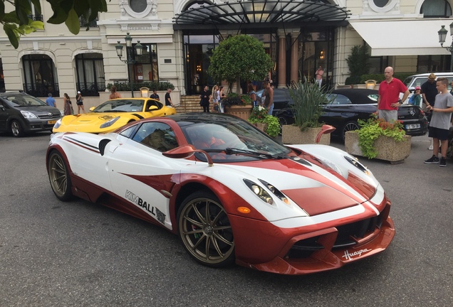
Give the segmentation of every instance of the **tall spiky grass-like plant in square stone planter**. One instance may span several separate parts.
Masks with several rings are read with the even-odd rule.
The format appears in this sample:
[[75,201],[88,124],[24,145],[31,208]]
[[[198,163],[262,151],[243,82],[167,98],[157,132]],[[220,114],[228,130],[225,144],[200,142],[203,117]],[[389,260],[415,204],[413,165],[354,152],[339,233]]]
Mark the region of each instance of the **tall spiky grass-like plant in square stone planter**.
[[[314,144],[316,136],[321,131],[323,123],[318,119],[321,116],[323,104],[329,102],[330,91],[321,89],[316,83],[299,81],[289,89],[293,104],[291,109],[294,124],[283,125],[281,139],[283,144]],[[330,144],[330,134],[321,137],[320,144]]]

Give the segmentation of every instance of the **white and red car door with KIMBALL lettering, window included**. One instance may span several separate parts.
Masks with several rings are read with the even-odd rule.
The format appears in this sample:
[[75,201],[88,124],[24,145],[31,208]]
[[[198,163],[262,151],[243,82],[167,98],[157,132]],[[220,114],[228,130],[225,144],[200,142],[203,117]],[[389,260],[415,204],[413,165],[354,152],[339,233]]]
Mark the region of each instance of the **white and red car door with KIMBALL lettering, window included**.
[[[146,141],[152,134],[163,132],[165,145]],[[122,137],[122,136],[120,136]],[[179,163],[166,158],[162,151],[178,146],[173,129],[162,122],[140,124],[130,139],[123,138],[119,146],[110,148],[108,168],[110,184],[115,194],[134,210],[134,215],[172,229],[170,221],[170,191],[179,174]]]

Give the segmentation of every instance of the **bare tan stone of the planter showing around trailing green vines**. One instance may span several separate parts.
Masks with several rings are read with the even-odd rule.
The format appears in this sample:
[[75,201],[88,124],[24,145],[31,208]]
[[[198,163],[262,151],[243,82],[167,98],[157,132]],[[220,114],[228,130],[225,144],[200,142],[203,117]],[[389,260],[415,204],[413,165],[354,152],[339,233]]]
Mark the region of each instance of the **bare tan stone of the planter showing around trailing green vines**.
[[[410,155],[412,136],[404,136],[404,140],[397,142],[388,136],[379,136],[375,141],[377,159],[389,161],[392,164],[402,163]],[[358,133],[348,131],[345,134],[345,150],[354,156],[363,156],[358,146]]]

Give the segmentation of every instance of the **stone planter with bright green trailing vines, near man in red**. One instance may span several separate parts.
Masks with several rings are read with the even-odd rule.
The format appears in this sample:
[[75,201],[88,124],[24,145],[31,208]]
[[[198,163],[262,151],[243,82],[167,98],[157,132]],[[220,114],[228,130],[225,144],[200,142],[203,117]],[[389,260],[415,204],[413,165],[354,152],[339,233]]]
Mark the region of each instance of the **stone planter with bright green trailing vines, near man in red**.
[[389,123],[372,114],[358,124],[360,129],[345,135],[345,149],[349,154],[391,163],[400,163],[410,155],[411,136],[406,135],[400,121]]

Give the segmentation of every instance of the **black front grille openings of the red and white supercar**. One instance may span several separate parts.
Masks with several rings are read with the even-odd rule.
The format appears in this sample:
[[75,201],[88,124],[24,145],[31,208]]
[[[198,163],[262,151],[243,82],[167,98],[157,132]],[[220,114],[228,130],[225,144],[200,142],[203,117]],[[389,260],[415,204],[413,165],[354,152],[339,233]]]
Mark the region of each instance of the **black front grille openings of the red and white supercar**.
[[[386,210],[382,212],[386,212]],[[355,239],[362,239],[373,233],[376,228],[380,228],[382,225],[382,212],[376,217],[336,227],[338,234],[332,249],[340,249],[357,244]],[[387,213],[385,214],[387,215]],[[327,235],[332,235],[332,233]],[[321,237],[323,236],[311,237],[296,242],[288,251],[286,257],[292,259],[310,257],[313,252],[324,248],[322,244],[318,243]]]

